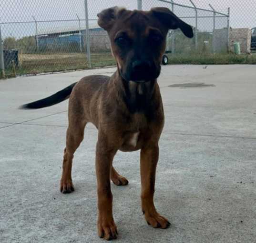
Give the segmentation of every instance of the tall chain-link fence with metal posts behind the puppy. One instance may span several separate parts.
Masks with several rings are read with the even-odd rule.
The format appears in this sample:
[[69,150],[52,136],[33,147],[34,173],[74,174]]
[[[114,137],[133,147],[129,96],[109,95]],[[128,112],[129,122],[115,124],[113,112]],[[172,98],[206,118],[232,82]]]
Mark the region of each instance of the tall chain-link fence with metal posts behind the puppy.
[[113,6],[129,10],[166,7],[189,23],[193,39],[184,38],[180,30],[168,33],[166,52],[174,61],[180,58],[193,63],[198,55],[225,54],[233,47],[230,36],[247,35],[241,36],[241,44],[244,41],[248,50],[250,31],[236,33],[230,28],[256,27],[255,1],[208,1],[0,0],[1,75],[114,65],[107,33],[97,24],[97,13]]

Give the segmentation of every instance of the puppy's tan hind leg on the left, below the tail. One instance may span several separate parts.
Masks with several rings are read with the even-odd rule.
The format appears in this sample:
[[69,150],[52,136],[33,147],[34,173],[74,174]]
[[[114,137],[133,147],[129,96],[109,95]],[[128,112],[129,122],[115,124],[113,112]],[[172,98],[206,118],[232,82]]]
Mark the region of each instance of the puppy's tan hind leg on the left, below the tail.
[[72,183],[72,159],[73,155],[83,140],[84,127],[86,122],[78,119],[69,121],[67,130],[66,147],[64,149],[62,176],[61,176],[61,193],[71,193],[74,191]]

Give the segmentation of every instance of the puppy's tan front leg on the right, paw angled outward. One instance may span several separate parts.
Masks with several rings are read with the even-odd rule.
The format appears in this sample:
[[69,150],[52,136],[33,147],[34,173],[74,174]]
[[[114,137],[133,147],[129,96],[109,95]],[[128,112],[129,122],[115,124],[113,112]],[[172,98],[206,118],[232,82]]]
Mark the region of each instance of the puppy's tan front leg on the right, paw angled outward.
[[141,149],[142,211],[146,222],[154,228],[167,228],[169,221],[158,214],[154,207],[154,183],[158,161],[158,145],[147,145]]

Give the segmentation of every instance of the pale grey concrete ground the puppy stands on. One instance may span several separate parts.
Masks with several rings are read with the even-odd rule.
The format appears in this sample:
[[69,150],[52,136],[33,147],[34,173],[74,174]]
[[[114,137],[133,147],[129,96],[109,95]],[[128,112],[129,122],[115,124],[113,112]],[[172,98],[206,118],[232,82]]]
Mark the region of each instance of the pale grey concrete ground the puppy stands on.
[[[97,130],[86,127],[75,154],[75,192],[61,194],[67,101],[18,107],[114,69],[0,80],[1,243],[103,242],[96,233]],[[172,225],[146,224],[139,152],[119,152],[114,164],[129,185],[112,184],[116,242],[255,243],[256,66],[164,66],[159,85],[165,126],[155,204]]]

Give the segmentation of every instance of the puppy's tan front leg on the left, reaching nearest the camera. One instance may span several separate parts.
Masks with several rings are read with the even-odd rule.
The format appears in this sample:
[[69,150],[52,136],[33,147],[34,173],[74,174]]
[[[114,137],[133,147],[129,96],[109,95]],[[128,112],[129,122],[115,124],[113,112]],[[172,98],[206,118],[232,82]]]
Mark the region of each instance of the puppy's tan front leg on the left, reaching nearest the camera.
[[99,136],[96,147],[96,175],[98,192],[98,233],[105,240],[116,239],[117,229],[112,214],[110,172],[116,150],[109,148]]

